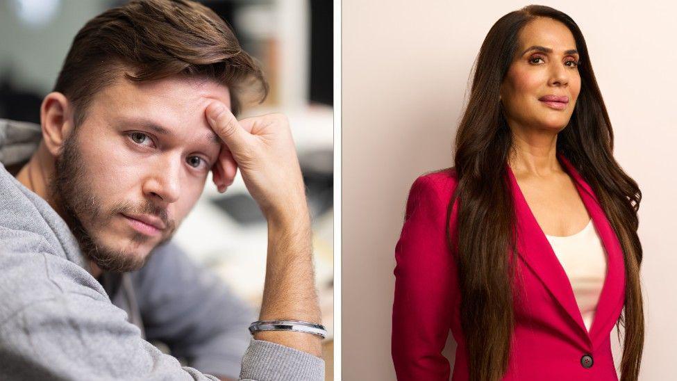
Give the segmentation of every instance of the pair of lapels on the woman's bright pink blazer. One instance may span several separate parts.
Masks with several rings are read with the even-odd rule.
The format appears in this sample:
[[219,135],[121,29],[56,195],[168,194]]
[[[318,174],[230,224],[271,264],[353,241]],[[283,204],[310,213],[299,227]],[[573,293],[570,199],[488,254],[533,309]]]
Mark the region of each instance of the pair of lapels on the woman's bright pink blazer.
[[552,293],[555,300],[567,311],[567,315],[578,325],[588,341],[587,344],[592,345],[594,342],[599,342],[600,334],[608,334],[608,331],[602,328],[609,323],[610,319],[618,317],[617,311],[620,311],[618,308],[619,298],[623,296],[624,291],[624,287],[618,286],[619,282],[624,282],[623,256],[616,235],[599,206],[592,188],[583,181],[583,178],[578,175],[576,169],[563,155],[558,154],[558,157],[560,157],[569,175],[574,179],[578,194],[592,218],[593,225],[601,238],[608,258],[607,274],[594,320],[590,327],[590,334],[583,323],[583,318],[580,315],[574,290],[571,288],[567,273],[562,268],[562,264],[560,264],[555,255],[550,242],[540,225],[538,225],[535,216],[533,216],[517,184],[515,174],[510,169],[510,166],[506,165],[515,202],[515,216],[517,217],[517,248],[519,256],[533,270],[544,286],[546,286],[546,289]]

